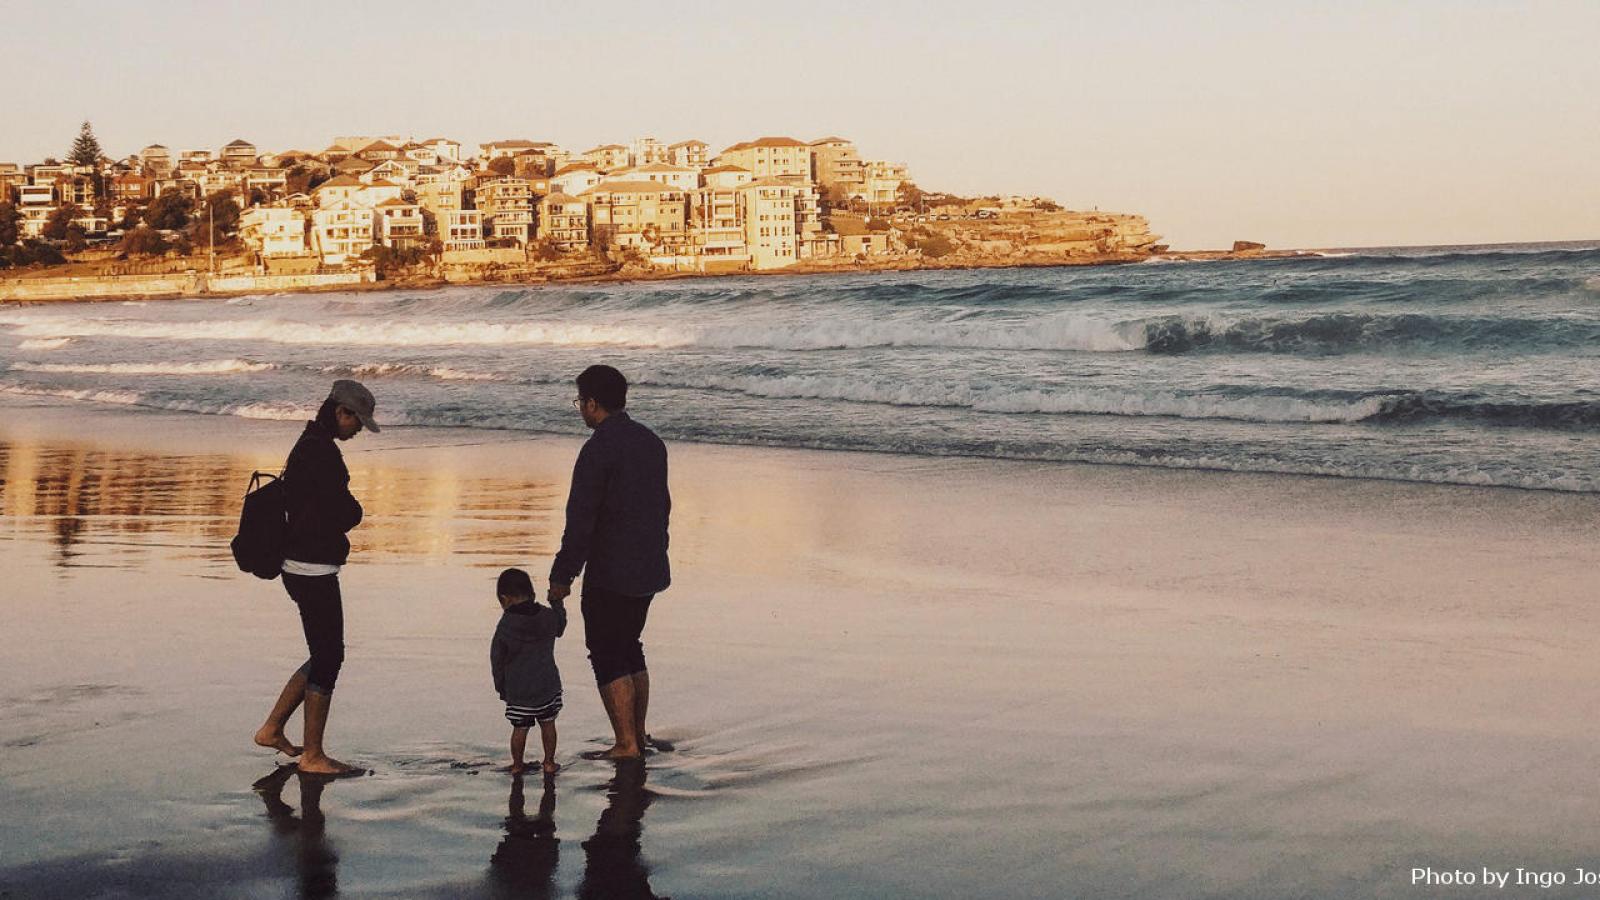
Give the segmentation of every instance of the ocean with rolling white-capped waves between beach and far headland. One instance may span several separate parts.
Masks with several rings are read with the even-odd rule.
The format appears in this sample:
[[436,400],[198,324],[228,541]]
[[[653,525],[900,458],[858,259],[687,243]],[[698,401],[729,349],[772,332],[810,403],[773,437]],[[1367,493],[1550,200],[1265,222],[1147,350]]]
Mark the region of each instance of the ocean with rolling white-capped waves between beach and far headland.
[[594,362],[669,440],[1600,492],[1597,243],[0,307],[48,402],[582,434]]

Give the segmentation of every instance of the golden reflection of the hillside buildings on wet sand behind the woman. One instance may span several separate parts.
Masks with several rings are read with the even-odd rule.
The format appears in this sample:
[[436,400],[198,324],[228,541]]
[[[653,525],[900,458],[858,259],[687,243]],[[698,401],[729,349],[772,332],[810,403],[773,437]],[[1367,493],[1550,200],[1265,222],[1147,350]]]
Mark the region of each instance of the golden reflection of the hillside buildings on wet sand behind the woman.
[[[0,540],[48,540],[59,567],[133,567],[152,552],[230,565],[227,541],[251,469],[242,456],[0,440]],[[496,565],[554,549],[562,498],[550,482],[352,455],[350,485],[366,508],[355,552]]]

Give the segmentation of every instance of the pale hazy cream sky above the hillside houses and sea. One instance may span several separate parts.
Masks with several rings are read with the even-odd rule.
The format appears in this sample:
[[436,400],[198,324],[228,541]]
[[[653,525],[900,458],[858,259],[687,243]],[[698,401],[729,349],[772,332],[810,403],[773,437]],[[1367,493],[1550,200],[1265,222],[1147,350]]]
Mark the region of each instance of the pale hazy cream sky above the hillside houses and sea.
[[0,160],[842,135],[1174,247],[1600,239],[1600,0],[582,6],[0,0]]

